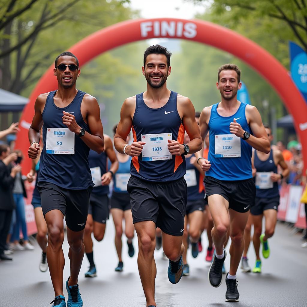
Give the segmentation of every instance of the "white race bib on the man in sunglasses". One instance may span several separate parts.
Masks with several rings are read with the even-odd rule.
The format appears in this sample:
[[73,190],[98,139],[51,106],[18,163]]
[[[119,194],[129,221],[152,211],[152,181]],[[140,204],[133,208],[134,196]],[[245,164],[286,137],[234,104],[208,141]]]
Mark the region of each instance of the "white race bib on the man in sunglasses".
[[74,154],[75,134],[68,128],[47,128],[46,153]]

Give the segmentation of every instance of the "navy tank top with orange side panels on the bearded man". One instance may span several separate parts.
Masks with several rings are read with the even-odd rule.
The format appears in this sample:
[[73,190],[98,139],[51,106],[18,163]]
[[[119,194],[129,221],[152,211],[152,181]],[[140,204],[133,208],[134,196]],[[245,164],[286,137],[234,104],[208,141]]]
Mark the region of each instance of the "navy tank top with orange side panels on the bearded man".
[[[143,93],[136,95],[132,133],[134,142],[142,141],[141,134],[172,133],[173,140],[183,143],[185,127],[177,110],[177,93],[171,91],[168,102],[161,108],[148,107]],[[142,154],[133,157],[130,173],[146,181],[165,182],[180,179],[185,174],[185,156],[171,160],[142,161]]]

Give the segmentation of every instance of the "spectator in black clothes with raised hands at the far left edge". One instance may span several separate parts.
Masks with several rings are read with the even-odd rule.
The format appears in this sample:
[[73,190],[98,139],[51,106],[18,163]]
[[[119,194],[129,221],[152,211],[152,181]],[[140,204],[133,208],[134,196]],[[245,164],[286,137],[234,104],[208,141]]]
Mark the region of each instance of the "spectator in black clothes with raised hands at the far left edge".
[[12,260],[4,254],[6,248],[6,237],[9,232],[12,212],[14,209],[13,186],[14,178],[21,171],[20,165],[15,165],[11,171],[8,163],[14,160],[16,154],[10,155],[8,145],[0,145],[0,259]]

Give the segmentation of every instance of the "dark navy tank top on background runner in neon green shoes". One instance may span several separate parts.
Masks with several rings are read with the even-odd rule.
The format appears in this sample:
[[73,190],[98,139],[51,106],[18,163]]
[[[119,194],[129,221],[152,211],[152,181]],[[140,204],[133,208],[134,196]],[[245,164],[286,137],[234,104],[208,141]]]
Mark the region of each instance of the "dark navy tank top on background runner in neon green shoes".
[[[273,150],[271,148],[270,156],[266,161],[261,161],[258,158],[257,150],[255,150],[254,166],[257,172],[273,172],[277,174],[277,165],[274,163]],[[279,196],[278,183],[273,182],[273,188],[270,189],[259,189],[256,188],[256,197],[260,198],[273,198]]]

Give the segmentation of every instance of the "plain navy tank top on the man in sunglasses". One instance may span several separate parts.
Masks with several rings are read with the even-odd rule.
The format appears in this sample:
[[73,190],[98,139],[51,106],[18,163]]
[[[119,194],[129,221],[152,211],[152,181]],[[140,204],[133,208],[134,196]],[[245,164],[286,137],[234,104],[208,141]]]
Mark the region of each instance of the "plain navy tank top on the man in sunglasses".
[[77,124],[91,133],[81,114],[81,102],[85,93],[78,91],[72,102],[64,108],[55,105],[53,101],[55,93],[56,91],[49,93],[42,113],[44,148],[41,153],[38,181],[50,182],[72,190],[87,189],[94,185],[87,160],[90,149],[80,137],[75,135],[75,153],[72,155],[46,153],[47,128],[67,128],[62,121],[63,111],[74,112]]

